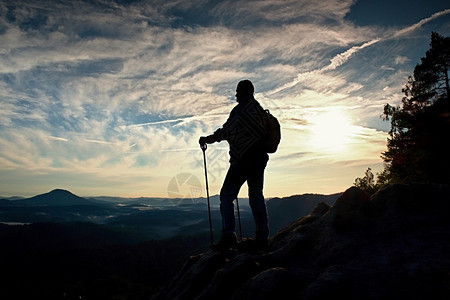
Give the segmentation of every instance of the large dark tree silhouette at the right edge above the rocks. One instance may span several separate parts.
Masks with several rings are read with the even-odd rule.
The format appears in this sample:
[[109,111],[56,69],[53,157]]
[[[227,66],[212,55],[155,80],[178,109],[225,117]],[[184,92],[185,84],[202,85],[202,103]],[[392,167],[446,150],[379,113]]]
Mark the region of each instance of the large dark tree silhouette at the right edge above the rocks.
[[450,38],[433,32],[402,90],[402,106],[385,105],[391,130],[382,158],[389,182],[450,182],[449,65]]

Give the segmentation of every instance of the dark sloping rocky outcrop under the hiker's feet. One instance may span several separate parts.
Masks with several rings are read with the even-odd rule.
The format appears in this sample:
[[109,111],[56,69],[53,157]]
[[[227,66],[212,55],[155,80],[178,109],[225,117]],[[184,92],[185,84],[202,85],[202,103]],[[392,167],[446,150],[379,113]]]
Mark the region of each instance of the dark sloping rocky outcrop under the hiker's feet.
[[280,230],[270,251],[191,257],[155,299],[449,299],[450,189],[351,187]]

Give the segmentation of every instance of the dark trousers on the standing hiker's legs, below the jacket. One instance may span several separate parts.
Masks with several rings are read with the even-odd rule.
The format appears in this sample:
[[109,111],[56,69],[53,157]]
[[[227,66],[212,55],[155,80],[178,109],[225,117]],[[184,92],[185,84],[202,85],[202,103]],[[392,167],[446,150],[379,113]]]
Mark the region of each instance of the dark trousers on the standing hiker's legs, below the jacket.
[[220,191],[220,212],[222,214],[222,235],[234,234],[236,222],[234,200],[245,181],[248,185],[250,208],[256,224],[256,238],[269,237],[269,222],[264,201],[264,170],[267,159],[257,162],[232,162]]

